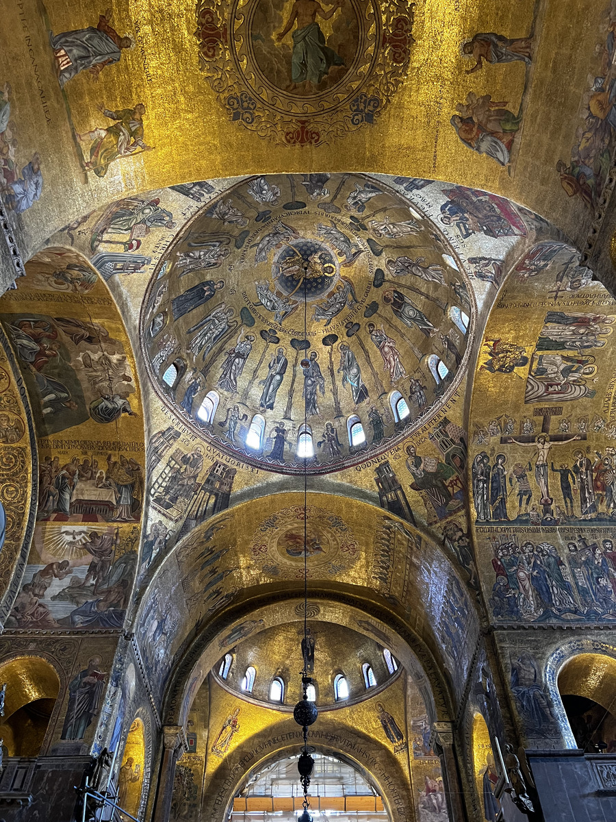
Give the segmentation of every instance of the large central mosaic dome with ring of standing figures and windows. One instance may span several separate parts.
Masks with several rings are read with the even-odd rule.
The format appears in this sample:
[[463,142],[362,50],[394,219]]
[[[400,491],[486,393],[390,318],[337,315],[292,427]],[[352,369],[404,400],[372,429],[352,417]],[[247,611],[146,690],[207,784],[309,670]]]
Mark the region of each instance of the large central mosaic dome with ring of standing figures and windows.
[[246,179],[154,272],[141,312],[149,374],[189,427],[243,462],[361,463],[457,384],[471,317],[461,267],[380,179]]

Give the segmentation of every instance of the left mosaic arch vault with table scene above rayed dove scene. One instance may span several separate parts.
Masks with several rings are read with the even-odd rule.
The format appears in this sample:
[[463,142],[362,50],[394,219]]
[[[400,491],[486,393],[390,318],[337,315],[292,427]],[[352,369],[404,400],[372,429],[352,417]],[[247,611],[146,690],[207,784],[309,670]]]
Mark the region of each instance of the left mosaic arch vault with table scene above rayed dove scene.
[[[0,325],[30,400],[39,457],[36,522],[16,592],[39,599],[38,616],[14,607],[5,627],[121,628],[146,481],[140,376],[125,316],[84,253],[52,245],[2,295]],[[39,571],[53,564],[50,585]]]

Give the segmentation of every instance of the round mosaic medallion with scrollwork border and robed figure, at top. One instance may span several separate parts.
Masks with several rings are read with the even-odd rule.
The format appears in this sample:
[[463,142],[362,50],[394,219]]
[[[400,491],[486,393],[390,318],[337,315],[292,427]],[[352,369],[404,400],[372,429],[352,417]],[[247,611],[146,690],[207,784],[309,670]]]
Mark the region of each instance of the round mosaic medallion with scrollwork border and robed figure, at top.
[[233,121],[287,145],[372,124],[405,75],[414,3],[227,0],[197,6],[200,67]]

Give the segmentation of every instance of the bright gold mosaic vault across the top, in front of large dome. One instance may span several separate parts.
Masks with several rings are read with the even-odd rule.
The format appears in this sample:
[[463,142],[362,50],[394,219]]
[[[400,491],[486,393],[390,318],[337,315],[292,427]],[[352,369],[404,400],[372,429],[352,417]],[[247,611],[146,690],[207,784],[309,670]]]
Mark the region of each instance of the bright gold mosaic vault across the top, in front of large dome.
[[26,258],[120,194],[232,174],[457,182],[580,245],[601,201],[613,13],[590,0],[6,5],[0,195]]

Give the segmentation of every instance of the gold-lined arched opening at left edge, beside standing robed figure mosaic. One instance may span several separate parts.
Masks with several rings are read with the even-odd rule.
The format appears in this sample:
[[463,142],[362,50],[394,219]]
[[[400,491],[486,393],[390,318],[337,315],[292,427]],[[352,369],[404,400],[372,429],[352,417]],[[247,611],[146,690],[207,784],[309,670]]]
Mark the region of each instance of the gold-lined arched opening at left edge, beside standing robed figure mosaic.
[[36,657],[18,657],[0,665],[6,683],[0,737],[9,756],[38,756],[60,690],[53,667]]

